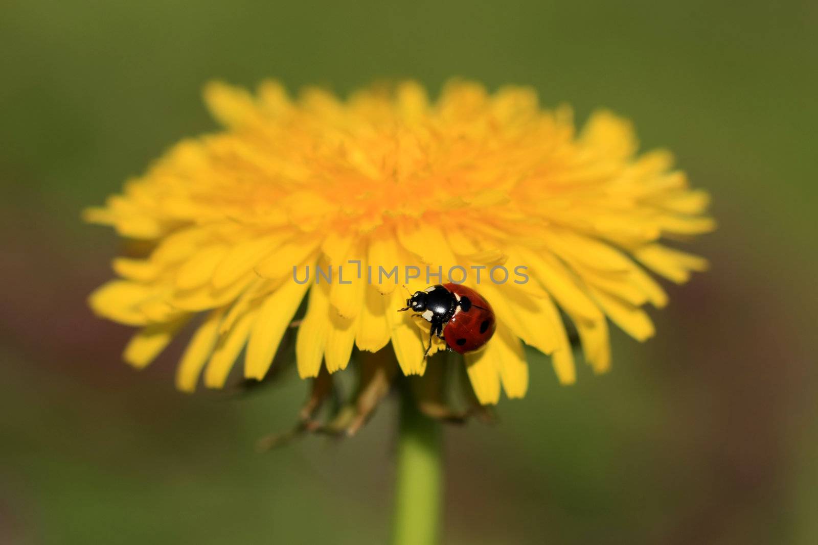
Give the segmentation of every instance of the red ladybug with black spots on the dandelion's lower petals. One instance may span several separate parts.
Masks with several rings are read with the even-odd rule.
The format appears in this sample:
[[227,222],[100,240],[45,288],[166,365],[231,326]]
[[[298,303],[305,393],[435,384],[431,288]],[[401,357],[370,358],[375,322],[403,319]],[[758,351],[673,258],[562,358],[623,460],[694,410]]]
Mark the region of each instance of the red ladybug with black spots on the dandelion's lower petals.
[[432,328],[429,330],[429,347],[437,335],[446,341],[449,350],[466,354],[486,344],[497,328],[494,310],[479,293],[461,284],[435,284],[423,292],[415,292],[407,299],[406,308],[414,310]]

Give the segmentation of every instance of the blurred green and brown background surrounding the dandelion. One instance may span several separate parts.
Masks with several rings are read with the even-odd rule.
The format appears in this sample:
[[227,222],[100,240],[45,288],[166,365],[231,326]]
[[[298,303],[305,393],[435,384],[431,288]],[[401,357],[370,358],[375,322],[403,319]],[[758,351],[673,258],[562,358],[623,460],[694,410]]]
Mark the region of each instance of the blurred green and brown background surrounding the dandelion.
[[447,429],[445,543],[818,543],[818,4],[344,3],[3,2],[0,543],[386,541],[394,404],[254,453],[305,384],[187,396],[178,351],[122,364],[128,328],[84,303],[117,243],[79,211],[215,128],[209,78],[453,75],[631,117],[720,229],[611,373],[560,387],[533,358],[499,425]]

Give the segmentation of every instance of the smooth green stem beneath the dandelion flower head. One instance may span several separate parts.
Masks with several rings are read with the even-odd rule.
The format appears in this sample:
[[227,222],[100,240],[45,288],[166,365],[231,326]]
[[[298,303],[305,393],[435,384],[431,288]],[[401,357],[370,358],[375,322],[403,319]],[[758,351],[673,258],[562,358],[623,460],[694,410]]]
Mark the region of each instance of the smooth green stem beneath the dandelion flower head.
[[402,397],[392,543],[434,545],[443,503],[440,425],[420,413],[408,388]]

